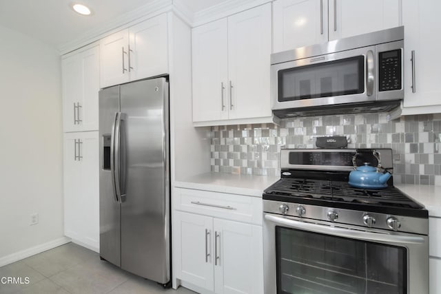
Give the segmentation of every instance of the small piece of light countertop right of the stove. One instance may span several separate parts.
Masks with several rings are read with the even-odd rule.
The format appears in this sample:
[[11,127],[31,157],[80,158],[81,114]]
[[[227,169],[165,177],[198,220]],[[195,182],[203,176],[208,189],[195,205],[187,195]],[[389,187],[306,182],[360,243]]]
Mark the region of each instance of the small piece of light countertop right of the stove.
[[429,216],[441,218],[441,186],[398,184],[395,187],[423,204]]

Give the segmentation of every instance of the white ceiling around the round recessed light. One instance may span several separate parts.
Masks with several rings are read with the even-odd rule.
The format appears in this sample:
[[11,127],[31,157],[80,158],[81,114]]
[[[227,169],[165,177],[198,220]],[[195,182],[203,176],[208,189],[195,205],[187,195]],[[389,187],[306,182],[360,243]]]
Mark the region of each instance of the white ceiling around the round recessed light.
[[[39,39],[54,48],[79,39],[85,32],[134,12],[158,0],[1,0],[0,25]],[[159,0],[167,1],[167,0]],[[181,0],[191,12],[198,12],[227,0]],[[76,14],[70,3],[83,3],[92,16]],[[170,2],[170,0],[168,0]]]

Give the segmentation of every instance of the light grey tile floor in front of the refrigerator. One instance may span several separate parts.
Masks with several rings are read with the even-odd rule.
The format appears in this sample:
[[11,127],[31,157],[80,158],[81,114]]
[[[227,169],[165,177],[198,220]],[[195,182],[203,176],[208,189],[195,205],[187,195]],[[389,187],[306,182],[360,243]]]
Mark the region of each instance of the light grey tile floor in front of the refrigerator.
[[[194,293],[183,287],[177,291],[164,289],[156,282],[100,260],[98,253],[73,243],[0,267],[2,277],[21,277],[22,284],[4,284],[3,278],[1,294]],[[28,284],[25,277],[29,278]]]

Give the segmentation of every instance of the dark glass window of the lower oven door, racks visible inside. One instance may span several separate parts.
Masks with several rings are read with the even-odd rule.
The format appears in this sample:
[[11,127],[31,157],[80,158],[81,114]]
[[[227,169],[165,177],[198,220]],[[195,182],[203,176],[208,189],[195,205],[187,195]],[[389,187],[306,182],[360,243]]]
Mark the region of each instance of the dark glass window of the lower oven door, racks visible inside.
[[277,293],[407,293],[407,249],[276,227]]

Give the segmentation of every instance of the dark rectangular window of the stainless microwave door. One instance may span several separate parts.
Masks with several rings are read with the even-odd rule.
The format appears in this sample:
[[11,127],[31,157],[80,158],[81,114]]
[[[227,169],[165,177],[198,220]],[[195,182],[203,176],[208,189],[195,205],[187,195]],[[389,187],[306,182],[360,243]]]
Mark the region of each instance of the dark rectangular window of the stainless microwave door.
[[365,92],[365,57],[355,56],[278,72],[278,101]]

